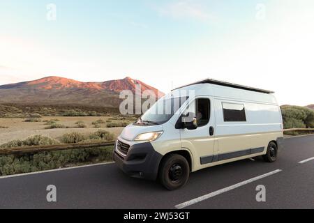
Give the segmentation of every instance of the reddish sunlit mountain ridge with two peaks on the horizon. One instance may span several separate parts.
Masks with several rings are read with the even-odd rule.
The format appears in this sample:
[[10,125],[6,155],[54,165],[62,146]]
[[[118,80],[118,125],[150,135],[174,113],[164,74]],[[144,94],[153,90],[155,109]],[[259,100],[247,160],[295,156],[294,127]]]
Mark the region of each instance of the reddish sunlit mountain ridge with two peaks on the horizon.
[[123,90],[135,93],[136,84],[141,85],[141,93],[150,90],[149,95],[155,95],[156,98],[163,95],[153,86],[130,77],[105,82],[80,82],[65,77],[49,76],[29,82],[1,85],[0,103],[119,107],[121,102],[119,93]]

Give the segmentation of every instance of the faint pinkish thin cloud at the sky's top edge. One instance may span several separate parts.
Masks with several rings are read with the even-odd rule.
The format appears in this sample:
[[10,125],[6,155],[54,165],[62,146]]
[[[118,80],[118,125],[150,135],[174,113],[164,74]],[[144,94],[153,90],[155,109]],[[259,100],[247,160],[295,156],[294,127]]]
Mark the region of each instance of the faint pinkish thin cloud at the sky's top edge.
[[201,4],[192,1],[174,1],[154,8],[160,16],[174,19],[195,19],[204,22],[214,19],[214,16],[204,10]]

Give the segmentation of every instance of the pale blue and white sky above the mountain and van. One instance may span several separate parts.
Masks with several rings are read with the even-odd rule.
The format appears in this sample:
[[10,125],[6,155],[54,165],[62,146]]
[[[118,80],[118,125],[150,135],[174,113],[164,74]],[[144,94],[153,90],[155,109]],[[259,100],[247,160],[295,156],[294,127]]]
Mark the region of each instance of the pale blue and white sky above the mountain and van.
[[312,0],[0,0],[0,84],[214,78],[314,103]]

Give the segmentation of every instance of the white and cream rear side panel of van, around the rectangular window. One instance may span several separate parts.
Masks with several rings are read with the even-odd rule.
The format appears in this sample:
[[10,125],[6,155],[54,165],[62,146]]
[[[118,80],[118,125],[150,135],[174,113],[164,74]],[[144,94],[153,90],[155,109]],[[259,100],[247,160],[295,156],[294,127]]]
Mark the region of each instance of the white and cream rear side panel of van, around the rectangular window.
[[[244,105],[246,121],[225,122],[223,102]],[[283,137],[278,105],[215,98],[219,161],[264,155],[270,141]]]

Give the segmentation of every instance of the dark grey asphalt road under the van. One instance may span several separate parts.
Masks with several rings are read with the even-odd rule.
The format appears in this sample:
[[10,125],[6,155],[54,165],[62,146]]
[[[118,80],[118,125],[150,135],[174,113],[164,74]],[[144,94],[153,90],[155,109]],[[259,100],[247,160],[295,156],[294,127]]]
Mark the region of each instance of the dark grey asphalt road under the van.
[[[285,139],[274,163],[241,160],[197,171],[186,187],[173,192],[129,178],[115,164],[0,178],[0,208],[175,208],[217,191],[186,208],[314,208],[314,160],[299,163],[311,157],[313,135]],[[281,171],[225,190],[277,169]],[[47,185],[57,187],[57,202],[47,202]],[[257,185],[266,188],[265,202],[255,199]]]

